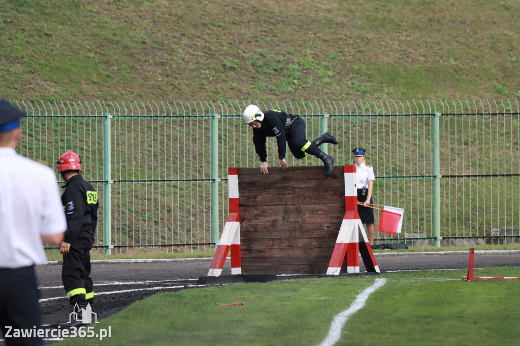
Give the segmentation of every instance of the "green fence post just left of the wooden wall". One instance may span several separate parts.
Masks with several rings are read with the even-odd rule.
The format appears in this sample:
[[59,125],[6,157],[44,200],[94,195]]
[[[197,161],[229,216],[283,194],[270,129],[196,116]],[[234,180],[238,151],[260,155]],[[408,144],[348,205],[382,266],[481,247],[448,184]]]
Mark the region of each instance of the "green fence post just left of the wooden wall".
[[218,118],[213,114],[211,118],[211,242],[218,243]]

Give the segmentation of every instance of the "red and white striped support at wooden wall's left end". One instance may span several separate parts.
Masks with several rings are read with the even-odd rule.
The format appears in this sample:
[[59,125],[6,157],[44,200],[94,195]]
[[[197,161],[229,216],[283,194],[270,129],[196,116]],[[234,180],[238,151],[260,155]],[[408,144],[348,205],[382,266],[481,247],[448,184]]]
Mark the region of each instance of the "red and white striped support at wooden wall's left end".
[[240,259],[240,216],[238,204],[238,168],[228,168],[229,216],[218,241],[207,276],[219,276],[231,249],[231,274],[242,274]]

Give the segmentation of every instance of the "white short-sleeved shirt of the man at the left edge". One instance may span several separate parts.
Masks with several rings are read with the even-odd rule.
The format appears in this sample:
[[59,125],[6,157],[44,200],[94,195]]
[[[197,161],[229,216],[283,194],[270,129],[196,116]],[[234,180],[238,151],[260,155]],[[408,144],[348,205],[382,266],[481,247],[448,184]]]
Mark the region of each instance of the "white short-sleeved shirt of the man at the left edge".
[[66,230],[53,170],[0,148],[0,268],[45,263],[40,235]]

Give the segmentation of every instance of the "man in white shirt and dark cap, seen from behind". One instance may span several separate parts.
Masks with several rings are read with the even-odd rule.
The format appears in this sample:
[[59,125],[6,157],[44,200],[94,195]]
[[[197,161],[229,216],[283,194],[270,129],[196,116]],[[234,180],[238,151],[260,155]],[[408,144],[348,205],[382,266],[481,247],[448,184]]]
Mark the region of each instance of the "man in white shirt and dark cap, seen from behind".
[[[67,229],[53,170],[15,152],[25,114],[0,100],[0,334],[41,325],[34,265],[47,260],[43,243],[59,246]],[[43,242],[43,243],[42,243]],[[8,345],[41,338],[5,337]]]

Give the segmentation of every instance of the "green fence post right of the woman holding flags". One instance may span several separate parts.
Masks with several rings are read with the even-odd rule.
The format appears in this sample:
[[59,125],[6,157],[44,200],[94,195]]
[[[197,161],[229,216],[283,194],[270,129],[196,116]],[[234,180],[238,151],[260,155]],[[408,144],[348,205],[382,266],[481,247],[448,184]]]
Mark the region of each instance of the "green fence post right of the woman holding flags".
[[433,117],[433,234],[435,246],[440,247],[440,113],[436,112]]

